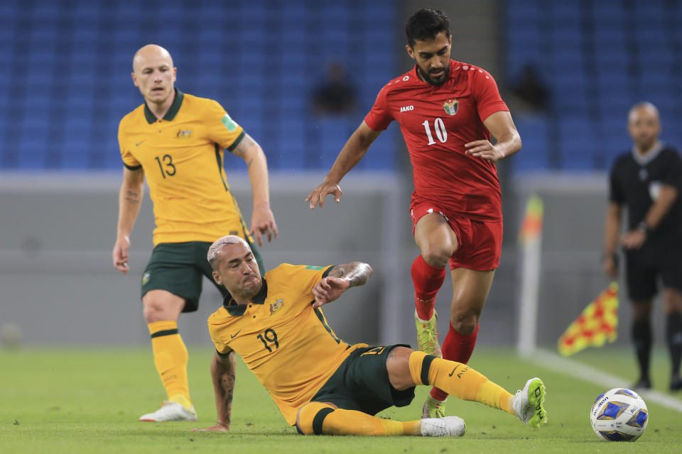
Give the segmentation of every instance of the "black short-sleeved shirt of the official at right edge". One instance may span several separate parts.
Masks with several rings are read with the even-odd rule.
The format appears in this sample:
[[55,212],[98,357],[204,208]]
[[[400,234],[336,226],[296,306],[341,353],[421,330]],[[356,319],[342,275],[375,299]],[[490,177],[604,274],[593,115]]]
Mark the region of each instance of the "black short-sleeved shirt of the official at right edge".
[[611,170],[609,198],[627,206],[630,230],[644,221],[646,212],[659,196],[661,184],[676,187],[681,194],[659,225],[649,232],[643,248],[682,244],[682,160],[674,148],[659,143],[644,156],[634,148],[620,155]]

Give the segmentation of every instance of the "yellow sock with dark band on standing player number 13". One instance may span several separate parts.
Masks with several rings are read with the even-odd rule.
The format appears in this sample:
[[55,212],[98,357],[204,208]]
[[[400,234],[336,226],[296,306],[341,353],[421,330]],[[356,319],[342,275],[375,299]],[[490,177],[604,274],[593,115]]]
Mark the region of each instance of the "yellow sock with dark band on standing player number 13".
[[190,408],[192,404],[187,382],[188,354],[183,338],[178,334],[178,322],[155,321],[149,323],[148,328],[151,334],[154,365],[163,387],[166,388],[168,400]]

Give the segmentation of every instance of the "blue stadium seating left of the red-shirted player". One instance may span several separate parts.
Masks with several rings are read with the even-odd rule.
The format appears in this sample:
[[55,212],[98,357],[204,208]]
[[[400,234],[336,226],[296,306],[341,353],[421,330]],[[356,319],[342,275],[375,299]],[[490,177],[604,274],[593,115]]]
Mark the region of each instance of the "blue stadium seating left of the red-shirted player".
[[[176,86],[220,101],[271,169],[326,170],[396,75],[384,51],[399,45],[395,15],[390,0],[2,1],[0,170],[120,170],[118,123],[141,103],[129,68],[146,43],[168,48]],[[331,58],[361,105],[318,118],[310,94]],[[401,148],[384,135],[360,168],[395,169]]]

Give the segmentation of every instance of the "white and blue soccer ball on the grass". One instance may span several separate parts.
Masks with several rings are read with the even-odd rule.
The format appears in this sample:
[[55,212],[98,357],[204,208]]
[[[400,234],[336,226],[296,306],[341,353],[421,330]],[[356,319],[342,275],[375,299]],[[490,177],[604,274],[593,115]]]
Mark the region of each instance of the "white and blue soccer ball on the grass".
[[597,397],[590,410],[590,422],[602,440],[635,441],[649,423],[649,411],[636,392],[614,388]]

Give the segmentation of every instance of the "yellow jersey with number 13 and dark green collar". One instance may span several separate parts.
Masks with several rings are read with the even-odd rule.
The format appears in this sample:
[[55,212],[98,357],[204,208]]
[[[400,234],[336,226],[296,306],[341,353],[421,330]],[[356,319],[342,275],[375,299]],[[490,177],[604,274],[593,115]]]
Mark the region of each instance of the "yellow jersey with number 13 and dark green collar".
[[[153,243],[212,242],[248,229],[227,185],[223,149],[244,130],[212,99],[175,90],[166,116],[142,104],[119,124],[121,159],[144,170],[154,205]],[[248,238],[247,238],[248,239]]]

